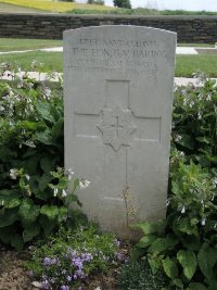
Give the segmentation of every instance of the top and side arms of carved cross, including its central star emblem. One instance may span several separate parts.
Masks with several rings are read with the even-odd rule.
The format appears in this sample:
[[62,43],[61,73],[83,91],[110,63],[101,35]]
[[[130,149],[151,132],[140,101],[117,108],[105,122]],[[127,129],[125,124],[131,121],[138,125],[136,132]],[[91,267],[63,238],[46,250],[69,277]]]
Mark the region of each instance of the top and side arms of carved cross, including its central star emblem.
[[[161,117],[136,116],[129,104],[129,81],[106,80],[105,104],[100,114],[75,113],[77,137],[99,138],[114,151],[133,140],[161,140]],[[85,129],[85,130],[84,130]]]

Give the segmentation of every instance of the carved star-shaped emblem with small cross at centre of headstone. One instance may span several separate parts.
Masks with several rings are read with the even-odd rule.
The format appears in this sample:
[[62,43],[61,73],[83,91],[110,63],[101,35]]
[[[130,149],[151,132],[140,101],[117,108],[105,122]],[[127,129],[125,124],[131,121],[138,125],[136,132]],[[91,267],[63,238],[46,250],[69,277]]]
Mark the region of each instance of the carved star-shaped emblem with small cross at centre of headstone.
[[102,121],[97,125],[102,133],[103,143],[111,144],[115,151],[122,146],[130,146],[131,134],[137,129],[132,119],[132,112],[128,109],[103,109]]

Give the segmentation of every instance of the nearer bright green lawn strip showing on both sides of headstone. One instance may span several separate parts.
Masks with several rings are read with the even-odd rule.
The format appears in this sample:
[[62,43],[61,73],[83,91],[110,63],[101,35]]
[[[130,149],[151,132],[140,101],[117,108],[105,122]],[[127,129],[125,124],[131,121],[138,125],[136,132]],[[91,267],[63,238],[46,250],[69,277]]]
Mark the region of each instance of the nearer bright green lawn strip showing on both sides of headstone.
[[[34,51],[26,53],[0,54],[0,63],[9,62],[20,65],[22,70],[33,71],[30,63],[37,60],[43,63],[43,71],[63,71],[62,52]],[[175,76],[192,77],[196,71],[202,71],[210,77],[217,77],[217,54],[177,55]]]

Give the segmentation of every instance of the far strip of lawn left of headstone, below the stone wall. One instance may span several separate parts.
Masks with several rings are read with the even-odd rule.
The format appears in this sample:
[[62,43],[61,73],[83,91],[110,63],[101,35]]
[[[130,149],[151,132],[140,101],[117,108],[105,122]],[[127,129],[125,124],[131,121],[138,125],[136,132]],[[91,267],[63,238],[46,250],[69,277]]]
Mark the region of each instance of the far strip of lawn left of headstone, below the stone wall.
[[62,47],[62,40],[0,38],[0,51]]

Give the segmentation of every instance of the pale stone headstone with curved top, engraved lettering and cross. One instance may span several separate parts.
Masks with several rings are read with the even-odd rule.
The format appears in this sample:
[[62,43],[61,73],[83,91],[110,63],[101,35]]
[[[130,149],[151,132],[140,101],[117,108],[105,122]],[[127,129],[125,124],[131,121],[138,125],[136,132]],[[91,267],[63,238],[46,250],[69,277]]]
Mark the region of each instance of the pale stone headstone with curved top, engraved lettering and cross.
[[65,167],[103,230],[165,216],[176,34],[100,26],[64,31]]

